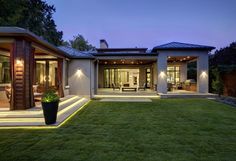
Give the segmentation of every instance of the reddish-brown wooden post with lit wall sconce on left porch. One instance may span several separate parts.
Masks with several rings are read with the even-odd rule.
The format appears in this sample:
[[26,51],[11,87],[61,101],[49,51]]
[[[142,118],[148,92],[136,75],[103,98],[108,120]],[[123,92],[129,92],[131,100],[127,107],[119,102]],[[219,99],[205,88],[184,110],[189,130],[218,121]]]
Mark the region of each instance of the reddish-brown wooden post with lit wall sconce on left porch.
[[34,53],[31,43],[16,39],[11,52],[11,110],[24,110],[34,105],[33,63]]

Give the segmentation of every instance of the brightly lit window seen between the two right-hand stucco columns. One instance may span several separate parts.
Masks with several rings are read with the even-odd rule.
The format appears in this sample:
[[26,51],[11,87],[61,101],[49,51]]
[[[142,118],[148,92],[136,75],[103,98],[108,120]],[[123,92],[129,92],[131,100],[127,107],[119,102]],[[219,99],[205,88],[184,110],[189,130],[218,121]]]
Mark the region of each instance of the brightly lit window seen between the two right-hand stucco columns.
[[167,82],[178,84],[180,82],[180,67],[168,66],[167,67]]

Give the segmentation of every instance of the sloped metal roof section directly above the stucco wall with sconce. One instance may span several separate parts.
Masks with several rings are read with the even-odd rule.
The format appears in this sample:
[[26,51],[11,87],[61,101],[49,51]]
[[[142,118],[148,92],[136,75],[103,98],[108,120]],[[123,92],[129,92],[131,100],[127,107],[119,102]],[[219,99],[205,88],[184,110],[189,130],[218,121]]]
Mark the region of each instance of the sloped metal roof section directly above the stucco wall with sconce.
[[67,53],[69,58],[82,58],[82,59],[94,59],[95,57],[90,54],[92,51],[79,51],[67,46],[59,46],[60,50]]

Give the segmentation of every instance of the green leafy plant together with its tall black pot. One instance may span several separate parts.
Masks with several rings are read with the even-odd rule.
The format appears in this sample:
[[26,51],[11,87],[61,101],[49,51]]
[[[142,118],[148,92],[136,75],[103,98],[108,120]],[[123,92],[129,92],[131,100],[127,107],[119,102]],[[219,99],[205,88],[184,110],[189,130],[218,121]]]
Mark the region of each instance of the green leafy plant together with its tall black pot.
[[43,115],[47,125],[54,124],[57,120],[59,100],[54,90],[47,90],[42,96]]

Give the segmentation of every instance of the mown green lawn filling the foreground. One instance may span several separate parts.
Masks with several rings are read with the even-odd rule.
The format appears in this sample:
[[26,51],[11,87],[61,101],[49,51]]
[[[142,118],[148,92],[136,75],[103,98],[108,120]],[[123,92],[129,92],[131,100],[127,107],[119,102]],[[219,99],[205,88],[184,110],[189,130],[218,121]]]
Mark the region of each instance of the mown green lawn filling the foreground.
[[92,101],[59,129],[0,130],[0,160],[236,160],[236,108],[206,99]]

